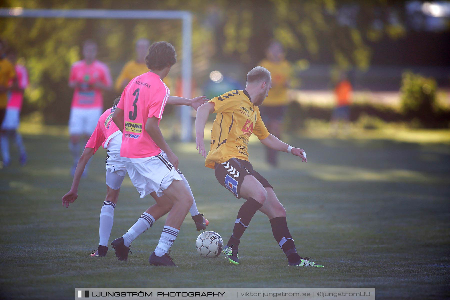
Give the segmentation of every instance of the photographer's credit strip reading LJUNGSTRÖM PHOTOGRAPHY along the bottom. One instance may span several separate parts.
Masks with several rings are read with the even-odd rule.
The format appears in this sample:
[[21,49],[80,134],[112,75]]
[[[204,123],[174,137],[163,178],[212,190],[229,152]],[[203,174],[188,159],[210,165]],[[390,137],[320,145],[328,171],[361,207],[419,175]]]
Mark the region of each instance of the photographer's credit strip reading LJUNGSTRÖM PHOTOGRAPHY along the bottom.
[[102,288],[77,287],[75,299],[345,299],[375,300],[374,287],[166,287],[166,288]]

